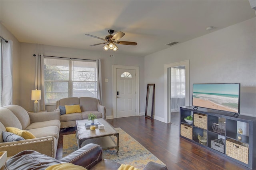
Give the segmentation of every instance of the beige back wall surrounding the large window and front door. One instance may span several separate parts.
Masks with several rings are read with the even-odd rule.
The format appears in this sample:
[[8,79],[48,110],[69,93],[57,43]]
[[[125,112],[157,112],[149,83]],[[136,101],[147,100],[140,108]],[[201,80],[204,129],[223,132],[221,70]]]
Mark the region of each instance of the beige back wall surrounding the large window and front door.
[[[102,62],[102,104],[106,106],[106,115],[112,116],[112,65],[126,65],[139,67],[139,84],[140,84],[140,112],[144,112],[144,57],[129,56],[112,53],[109,51],[96,52],[92,50],[82,50],[76,48],[65,48],[57,46],[48,46],[40,44],[21,43],[21,58],[20,60],[20,95],[22,101],[20,106],[26,110],[32,110],[33,101],[31,101],[31,90],[34,88],[34,72],[35,72],[35,57],[33,54],[42,53],[47,56],[61,56],[69,58],[84,58],[84,59],[101,59]],[[114,57],[110,57],[114,54]],[[108,78],[108,82],[104,82]],[[47,110],[54,110],[55,106],[47,106]]]

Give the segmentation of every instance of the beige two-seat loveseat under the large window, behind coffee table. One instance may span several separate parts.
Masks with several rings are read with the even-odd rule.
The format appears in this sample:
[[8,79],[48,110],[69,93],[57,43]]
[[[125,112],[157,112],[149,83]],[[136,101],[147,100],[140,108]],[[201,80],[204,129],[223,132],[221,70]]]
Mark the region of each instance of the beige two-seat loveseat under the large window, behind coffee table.
[[79,104],[82,113],[70,113],[60,115],[60,128],[76,126],[76,120],[88,119],[88,114],[92,113],[97,118],[106,119],[106,107],[102,106],[100,100],[92,97],[69,97],[57,101],[55,111],[60,111],[60,106]]

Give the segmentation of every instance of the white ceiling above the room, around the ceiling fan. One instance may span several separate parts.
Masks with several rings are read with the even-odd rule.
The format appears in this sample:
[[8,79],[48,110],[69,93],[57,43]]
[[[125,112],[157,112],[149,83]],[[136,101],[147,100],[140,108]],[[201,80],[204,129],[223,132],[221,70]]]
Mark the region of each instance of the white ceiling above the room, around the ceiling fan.
[[[20,42],[103,51],[109,29],[124,32],[114,53],[145,56],[255,17],[248,0],[1,0],[1,23]],[[215,29],[206,31],[206,27]]]

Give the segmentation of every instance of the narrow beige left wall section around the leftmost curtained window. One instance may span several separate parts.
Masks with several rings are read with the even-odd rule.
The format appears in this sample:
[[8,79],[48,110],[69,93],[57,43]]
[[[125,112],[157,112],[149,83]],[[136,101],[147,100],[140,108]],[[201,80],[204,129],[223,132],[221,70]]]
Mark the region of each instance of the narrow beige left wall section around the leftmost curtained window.
[[20,42],[1,24],[1,36],[12,43],[12,103],[20,104]]

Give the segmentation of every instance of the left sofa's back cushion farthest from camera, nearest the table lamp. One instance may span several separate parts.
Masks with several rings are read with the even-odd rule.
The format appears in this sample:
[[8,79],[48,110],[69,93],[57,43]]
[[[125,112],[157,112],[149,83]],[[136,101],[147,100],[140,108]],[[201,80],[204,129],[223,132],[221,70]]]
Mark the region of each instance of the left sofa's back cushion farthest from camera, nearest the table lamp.
[[[22,125],[21,129],[25,129],[26,127],[28,127],[28,125],[30,125],[30,118],[29,118],[28,112],[21,106],[8,105],[8,106],[4,106],[4,108],[11,110],[15,114],[15,116],[20,121],[20,124]],[[6,126],[6,127],[16,127],[16,126]]]

